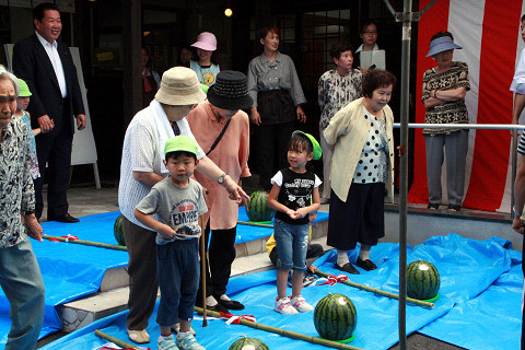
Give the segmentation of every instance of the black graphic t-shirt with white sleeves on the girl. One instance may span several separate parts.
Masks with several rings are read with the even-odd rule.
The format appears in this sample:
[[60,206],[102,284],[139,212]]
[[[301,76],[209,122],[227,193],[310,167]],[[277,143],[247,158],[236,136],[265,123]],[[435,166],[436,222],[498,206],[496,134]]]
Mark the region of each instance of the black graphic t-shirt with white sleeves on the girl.
[[[277,201],[292,210],[310,206],[314,188],[322,184],[317,175],[312,172],[299,174],[288,167],[279,171],[271,178],[271,183],[281,187]],[[310,222],[307,215],[294,220],[282,211],[276,212],[276,219],[294,225],[304,225]]]

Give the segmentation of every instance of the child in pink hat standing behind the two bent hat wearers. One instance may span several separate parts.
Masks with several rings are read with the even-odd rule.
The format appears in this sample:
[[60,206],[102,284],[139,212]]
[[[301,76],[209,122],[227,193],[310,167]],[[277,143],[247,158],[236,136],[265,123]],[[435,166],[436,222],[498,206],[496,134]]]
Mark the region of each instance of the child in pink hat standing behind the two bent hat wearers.
[[213,33],[202,32],[191,46],[197,48],[198,61],[191,60],[189,68],[197,73],[200,83],[207,86],[213,85],[217,74],[221,71],[213,58],[213,51],[217,50],[215,36]]

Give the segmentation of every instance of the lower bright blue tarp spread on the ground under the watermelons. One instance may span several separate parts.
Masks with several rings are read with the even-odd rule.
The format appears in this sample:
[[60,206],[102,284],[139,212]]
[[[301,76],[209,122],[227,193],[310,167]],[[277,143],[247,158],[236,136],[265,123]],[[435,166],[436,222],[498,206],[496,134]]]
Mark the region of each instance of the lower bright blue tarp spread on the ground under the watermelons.
[[[371,258],[377,262],[378,269],[370,272],[360,269],[361,275],[350,276],[351,280],[396,292],[398,285],[398,245],[389,243],[374,247]],[[355,261],[358,252],[359,247],[350,252],[351,261]],[[518,260],[515,258],[516,254],[517,252],[510,250],[509,242],[501,238],[492,237],[480,242],[462,238],[456,234],[432,237],[413,249],[408,247],[408,260],[412,261],[420,258],[434,264],[441,273],[442,284],[441,296],[435,302],[434,308],[407,305],[407,334],[419,330],[429,324],[435,327],[436,331],[441,331],[442,335],[446,334],[451,325],[444,320],[446,320],[451,310],[454,310],[454,305],[472,302],[483,303],[483,307],[487,310],[498,307],[500,310],[493,311],[493,314],[511,315],[513,319],[509,320],[512,324],[511,328],[502,327],[498,329],[494,329],[494,327],[498,327],[499,322],[494,323],[494,319],[487,319],[478,329],[480,337],[469,339],[468,348],[485,349],[487,339],[491,338],[491,332],[497,335],[494,337],[497,339],[514,339],[512,343],[520,341],[520,332],[515,329],[521,326],[521,310],[518,307],[521,302],[512,298],[513,302],[493,303],[494,296],[491,299],[480,298],[486,292],[491,293],[492,288],[497,288],[497,292],[500,293],[499,300],[508,299],[508,295],[511,295],[508,293],[513,293],[512,289],[516,288],[516,280],[520,279],[518,276],[516,277],[517,268],[515,266],[518,265]],[[317,259],[315,265],[325,272],[339,275],[340,271],[334,268],[336,254],[331,250]],[[229,284],[229,293],[232,293],[235,300],[246,305],[246,310],[242,313],[255,315],[258,323],[316,336],[312,312],[300,315],[281,315],[272,311],[277,294],[275,279],[276,271],[233,278]],[[327,284],[308,287],[303,290],[302,294],[310,303],[315,305],[328,292],[346,294],[355,304],[358,326],[354,331],[355,340],[351,342],[351,346],[363,349],[388,349],[398,341],[398,302],[396,300],[377,296],[341,283],[332,287]],[[147,346],[151,349],[156,348],[159,337],[155,316],[156,312],[150,318],[148,326],[151,342]],[[457,313],[457,317],[460,316],[460,313]],[[477,316],[468,315],[463,322],[471,322],[472,317]],[[101,319],[42,349],[97,349],[106,341],[94,336],[93,331],[96,328],[127,340],[125,318],[126,312],[122,312]],[[202,328],[201,325],[200,319],[195,319],[192,323],[198,341],[208,349],[228,349],[241,335],[258,338],[265,341],[270,349],[324,348],[242,325],[226,325],[224,320],[220,319],[209,319],[207,328]],[[481,336],[483,336],[482,339]],[[460,337],[463,338],[465,335],[460,335]],[[436,338],[442,339],[441,337]],[[450,339],[445,341],[454,343]]]

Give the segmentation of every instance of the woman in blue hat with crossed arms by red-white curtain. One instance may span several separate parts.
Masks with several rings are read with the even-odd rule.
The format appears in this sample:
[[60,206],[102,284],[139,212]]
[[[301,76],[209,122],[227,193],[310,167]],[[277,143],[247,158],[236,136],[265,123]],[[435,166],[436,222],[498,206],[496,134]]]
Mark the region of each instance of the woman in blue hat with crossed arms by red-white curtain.
[[[427,124],[468,124],[465,95],[470,90],[468,66],[452,60],[454,44],[448,32],[438,32],[430,42],[431,56],[438,66],[423,74],[421,101],[427,108]],[[468,129],[423,129],[427,147],[429,209],[441,203],[441,167],[446,149],[446,189],[448,210],[459,211],[465,185],[465,163],[468,150]]]

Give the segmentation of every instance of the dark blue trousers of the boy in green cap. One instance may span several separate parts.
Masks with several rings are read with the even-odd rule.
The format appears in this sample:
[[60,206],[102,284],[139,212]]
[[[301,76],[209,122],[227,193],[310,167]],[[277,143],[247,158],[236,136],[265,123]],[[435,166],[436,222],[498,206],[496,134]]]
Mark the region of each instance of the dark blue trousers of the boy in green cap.
[[199,289],[199,240],[175,241],[156,246],[161,303],[156,323],[168,327],[194,318]]

